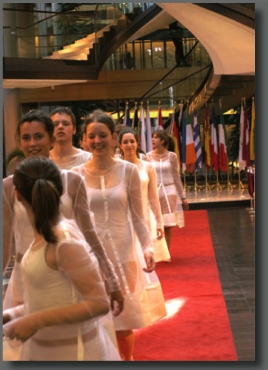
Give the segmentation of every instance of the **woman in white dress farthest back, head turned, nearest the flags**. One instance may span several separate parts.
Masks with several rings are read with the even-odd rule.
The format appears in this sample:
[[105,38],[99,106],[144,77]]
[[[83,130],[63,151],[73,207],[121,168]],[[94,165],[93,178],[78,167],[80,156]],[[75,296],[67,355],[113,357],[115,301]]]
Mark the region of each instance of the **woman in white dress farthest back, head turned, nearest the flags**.
[[180,169],[177,156],[167,149],[168,134],[164,130],[156,130],[152,134],[153,150],[147,153],[157,175],[158,195],[163,216],[165,238],[170,249],[172,228],[178,225],[176,211],[183,204],[189,208],[186,195],[180,179]]

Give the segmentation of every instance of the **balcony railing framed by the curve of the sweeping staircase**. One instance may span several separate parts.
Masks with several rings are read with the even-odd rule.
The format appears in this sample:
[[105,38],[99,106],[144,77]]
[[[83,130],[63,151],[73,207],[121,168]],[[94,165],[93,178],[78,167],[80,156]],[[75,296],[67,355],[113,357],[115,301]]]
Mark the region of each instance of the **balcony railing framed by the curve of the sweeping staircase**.
[[[136,101],[149,100],[155,107],[161,101],[163,109],[169,109],[193,96],[211,68],[209,54],[197,39],[182,39],[182,51],[181,63],[177,64],[172,41],[136,40],[120,46],[106,61],[103,70],[159,69],[159,82]],[[131,56],[128,59],[124,58],[126,52]],[[134,101],[130,102],[130,106],[133,105]]]

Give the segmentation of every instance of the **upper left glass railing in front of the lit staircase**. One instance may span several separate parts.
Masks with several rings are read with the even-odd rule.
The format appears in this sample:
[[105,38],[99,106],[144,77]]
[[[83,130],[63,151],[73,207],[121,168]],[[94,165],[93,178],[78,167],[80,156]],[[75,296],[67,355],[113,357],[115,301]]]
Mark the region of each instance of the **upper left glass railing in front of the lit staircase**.
[[[117,24],[120,18],[130,22],[151,5],[153,3],[5,3],[3,55],[87,60],[88,50],[106,28]],[[100,52],[101,49],[96,50],[96,58]]]

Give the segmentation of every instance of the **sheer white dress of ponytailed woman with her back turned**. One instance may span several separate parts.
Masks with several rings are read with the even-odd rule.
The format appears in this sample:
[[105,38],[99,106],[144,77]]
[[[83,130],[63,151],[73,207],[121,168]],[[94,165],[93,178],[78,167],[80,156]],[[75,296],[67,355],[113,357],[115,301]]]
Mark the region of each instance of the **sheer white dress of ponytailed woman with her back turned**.
[[[23,344],[19,360],[120,361],[118,350],[104,330],[101,317],[96,316],[101,312],[103,303],[108,303],[96,257],[89,252],[83,234],[72,220],[63,219],[58,224],[57,236],[57,270],[51,269],[46,263],[47,242],[44,239],[38,250],[33,250],[31,245],[22,258],[23,314],[68,307],[90,300],[93,318],[78,324],[59,324],[39,329]],[[84,281],[82,290],[79,291],[73,281]]]

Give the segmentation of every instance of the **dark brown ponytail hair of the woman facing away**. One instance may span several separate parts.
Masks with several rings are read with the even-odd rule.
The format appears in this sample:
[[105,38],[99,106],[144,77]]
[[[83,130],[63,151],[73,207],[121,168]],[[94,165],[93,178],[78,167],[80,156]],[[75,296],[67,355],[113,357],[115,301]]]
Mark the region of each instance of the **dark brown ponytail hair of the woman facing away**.
[[56,243],[53,231],[60,213],[63,193],[60,170],[46,157],[31,157],[17,165],[13,184],[21,196],[32,206],[36,230],[48,243]]

